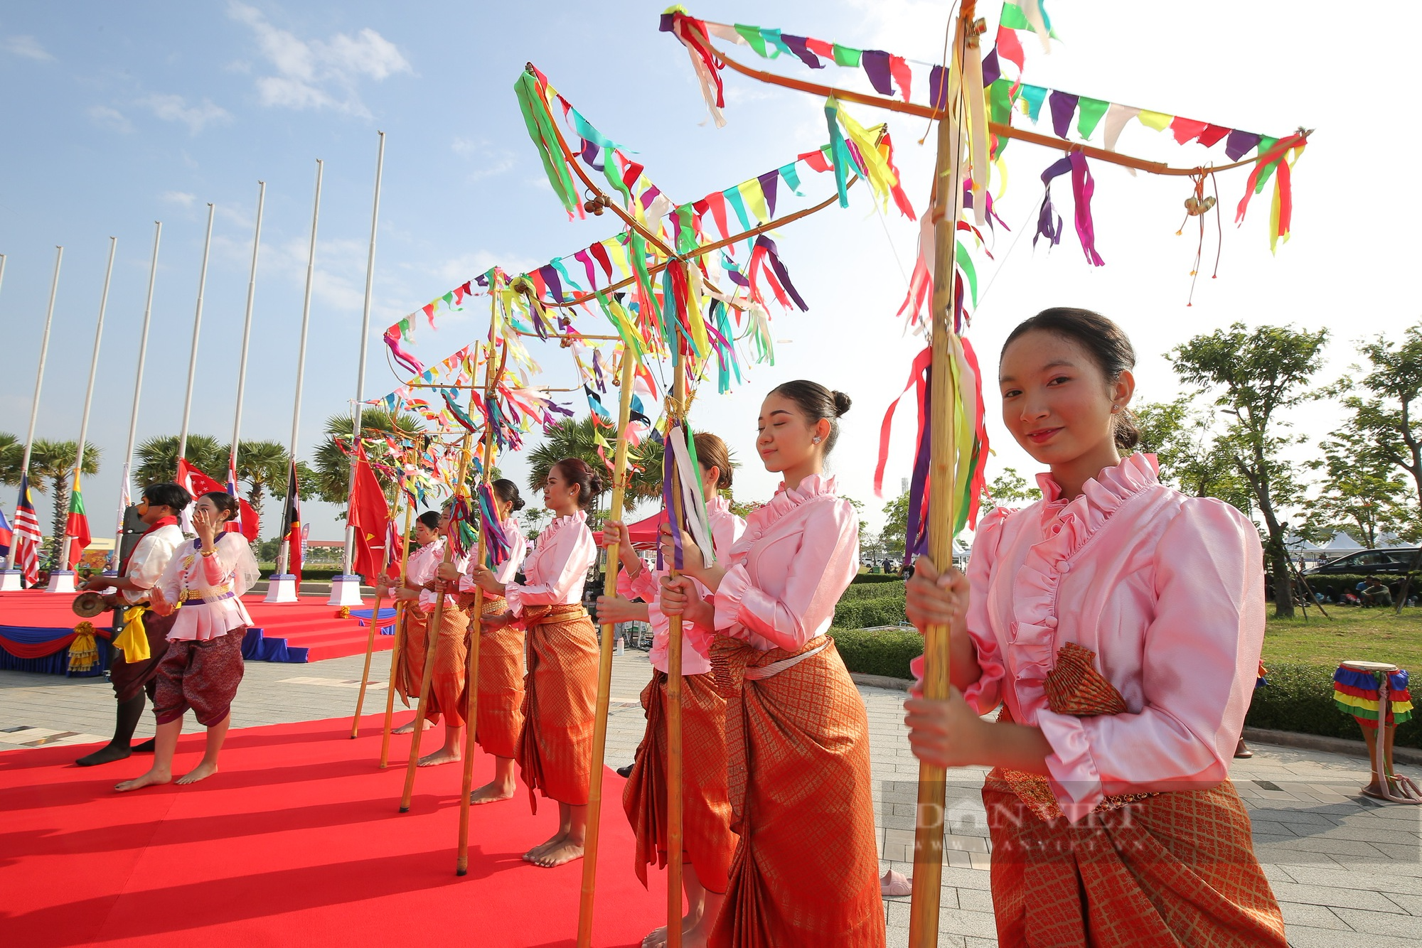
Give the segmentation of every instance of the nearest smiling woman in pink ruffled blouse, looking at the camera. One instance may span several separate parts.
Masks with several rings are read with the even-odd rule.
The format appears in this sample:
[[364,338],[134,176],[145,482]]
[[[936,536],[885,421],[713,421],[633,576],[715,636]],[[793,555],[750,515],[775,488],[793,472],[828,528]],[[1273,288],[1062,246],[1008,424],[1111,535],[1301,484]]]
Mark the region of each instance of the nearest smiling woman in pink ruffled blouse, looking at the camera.
[[1004,945],[1283,947],[1229,780],[1264,637],[1258,532],[1122,456],[1133,365],[1086,310],[1008,335],[1003,424],[1051,473],[1039,502],[978,524],[967,576],[917,560],[909,618],[950,627],[953,689],[907,702],[909,740],[993,767]]

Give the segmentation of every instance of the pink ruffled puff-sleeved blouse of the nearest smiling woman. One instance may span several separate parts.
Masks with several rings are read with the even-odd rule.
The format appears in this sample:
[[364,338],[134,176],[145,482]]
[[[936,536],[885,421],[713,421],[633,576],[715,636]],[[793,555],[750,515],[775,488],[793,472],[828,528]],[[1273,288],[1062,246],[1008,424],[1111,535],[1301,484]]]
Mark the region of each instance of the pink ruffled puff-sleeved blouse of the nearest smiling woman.
[[[1264,642],[1258,532],[1221,500],[1156,479],[1132,455],[1066,502],[1049,475],[1042,499],[994,510],[968,561],[968,632],[983,677],[964,696],[980,713],[1005,701],[1037,725],[1058,804],[1069,819],[1103,795],[1214,786],[1244,728]],[[1078,718],[1047,708],[1057,650],[1076,642],[1126,702]]]

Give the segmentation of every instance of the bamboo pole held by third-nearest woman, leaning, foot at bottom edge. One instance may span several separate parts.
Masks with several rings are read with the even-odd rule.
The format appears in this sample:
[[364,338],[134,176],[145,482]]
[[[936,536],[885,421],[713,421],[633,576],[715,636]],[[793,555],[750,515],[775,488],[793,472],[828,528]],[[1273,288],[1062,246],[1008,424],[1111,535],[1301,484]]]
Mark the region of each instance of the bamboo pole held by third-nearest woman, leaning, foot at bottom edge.
[[[631,419],[631,385],[636,357],[623,348],[621,392],[617,399],[617,448],[613,452],[613,500],[610,520],[621,520],[627,492],[627,422]],[[603,567],[603,596],[617,596],[621,559],[607,551]],[[583,890],[577,903],[577,948],[593,944],[593,893],[597,888],[597,836],[603,813],[603,758],[607,752],[607,704],[613,679],[613,625],[602,627],[597,658],[597,708],[593,712],[593,766],[587,782],[587,836],[583,840]]]

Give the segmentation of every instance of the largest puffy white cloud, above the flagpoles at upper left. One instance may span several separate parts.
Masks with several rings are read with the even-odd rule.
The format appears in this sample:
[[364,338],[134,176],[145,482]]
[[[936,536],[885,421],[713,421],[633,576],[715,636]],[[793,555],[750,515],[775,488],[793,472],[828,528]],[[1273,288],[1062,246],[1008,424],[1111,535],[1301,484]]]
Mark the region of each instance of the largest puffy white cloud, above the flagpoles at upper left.
[[228,4],[228,16],[252,28],[262,55],[276,70],[256,80],[263,105],[334,108],[364,117],[370,112],[356,88],[360,80],[378,82],[412,71],[400,48],[370,27],[354,37],[337,33],[330,40],[301,40],[240,0]]

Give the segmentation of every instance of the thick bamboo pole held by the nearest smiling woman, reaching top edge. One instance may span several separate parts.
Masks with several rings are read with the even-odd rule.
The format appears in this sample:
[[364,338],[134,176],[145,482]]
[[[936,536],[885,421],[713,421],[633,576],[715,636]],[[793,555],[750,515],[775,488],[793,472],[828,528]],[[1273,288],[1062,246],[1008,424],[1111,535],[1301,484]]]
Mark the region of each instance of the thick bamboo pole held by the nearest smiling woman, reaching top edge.
[[[973,24],[973,0],[964,0],[953,38],[951,68],[963,75],[964,47]],[[961,90],[961,84],[958,84]],[[960,91],[961,97],[961,91]],[[933,389],[930,392],[931,445],[929,459],[929,557],[940,570],[953,566],[953,524],[956,520],[953,392],[957,377],[953,361],[953,313],[956,310],[954,235],[963,200],[963,115],[961,101],[948,102],[939,119],[939,156],[934,173],[934,260],[933,260]],[[948,696],[948,627],[929,625],[924,632],[923,696],[946,701]],[[909,907],[910,948],[939,944],[939,898],[943,883],[943,807],[946,770],[919,762],[919,797],[913,847],[913,900]]]

